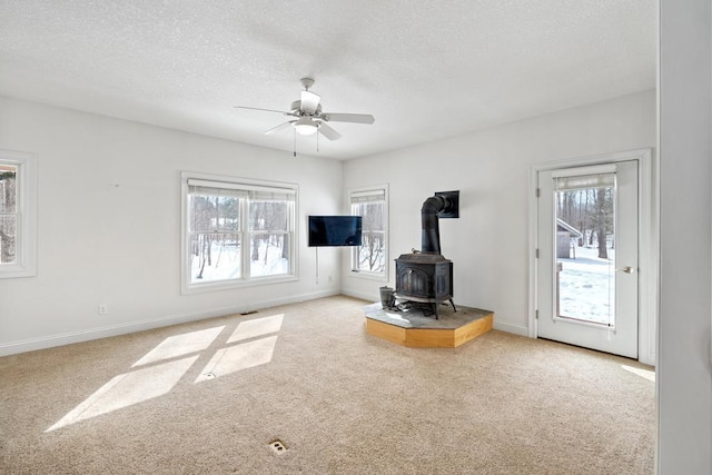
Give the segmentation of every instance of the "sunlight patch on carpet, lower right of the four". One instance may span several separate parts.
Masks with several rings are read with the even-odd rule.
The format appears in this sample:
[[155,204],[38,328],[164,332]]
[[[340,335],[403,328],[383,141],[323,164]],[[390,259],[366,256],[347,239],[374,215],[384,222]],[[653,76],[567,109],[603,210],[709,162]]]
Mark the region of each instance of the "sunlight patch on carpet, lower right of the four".
[[271,360],[276,344],[277,336],[270,336],[218,349],[210,363],[200,372],[196,383],[266,365]]

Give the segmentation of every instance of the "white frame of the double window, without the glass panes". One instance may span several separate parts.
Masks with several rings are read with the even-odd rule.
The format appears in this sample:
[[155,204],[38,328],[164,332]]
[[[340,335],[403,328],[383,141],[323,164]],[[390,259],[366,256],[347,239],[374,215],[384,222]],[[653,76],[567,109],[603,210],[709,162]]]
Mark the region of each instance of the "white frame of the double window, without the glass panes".
[[[290,218],[290,239],[289,239],[289,273],[279,276],[259,276],[249,277],[249,263],[243,260],[243,276],[236,279],[218,280],[192,284],[190,283],[190,247],[189,247],[189,185],[188,181],[206,181],[212,182],[215,187],[233,188],[233,189],[246,189],[246,190],[280,190],[286,192],[293,192],[295,195],[294,212]],[[227,177],[222,175],[208,175],[192,171],[181,171],[180,174],[180,293],[182,295],[225,290],[241,287],[251,287],[267,284],[278,284],[298,280],[297,263],[299,261],[297,249],[299,248],[297,239],[299,236],[298,224],[296,217],[298,216],[298,199],[299,191],[298,186],[295,184],[275,182],[253,180],[247,178]],[[246,209],[244,209],[246,211]],[[245,212],[241,214],[246,216]],[[245,236],[249,236],[249,229],[240,228],[240,232]],[[247,255],[247,256],[246,256]],[[243,253],[243,258],[248,259],[249,253]]]

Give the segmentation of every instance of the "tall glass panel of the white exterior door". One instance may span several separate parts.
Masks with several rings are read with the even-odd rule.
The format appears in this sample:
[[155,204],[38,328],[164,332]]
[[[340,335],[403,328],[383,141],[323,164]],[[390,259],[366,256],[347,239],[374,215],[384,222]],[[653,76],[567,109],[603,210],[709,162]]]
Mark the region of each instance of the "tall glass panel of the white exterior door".
[[615,174],[554,181],[556,316],[615,327]]

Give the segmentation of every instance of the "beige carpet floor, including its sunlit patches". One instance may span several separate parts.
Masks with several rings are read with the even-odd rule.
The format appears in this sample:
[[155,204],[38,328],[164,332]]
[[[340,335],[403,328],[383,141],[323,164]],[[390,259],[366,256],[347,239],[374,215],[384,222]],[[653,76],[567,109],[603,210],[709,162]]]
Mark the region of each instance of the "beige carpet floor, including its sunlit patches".
[[365,334],[366,304],[0,358],[0,473],[653,472],[651,368],[496,330],[405,348]]

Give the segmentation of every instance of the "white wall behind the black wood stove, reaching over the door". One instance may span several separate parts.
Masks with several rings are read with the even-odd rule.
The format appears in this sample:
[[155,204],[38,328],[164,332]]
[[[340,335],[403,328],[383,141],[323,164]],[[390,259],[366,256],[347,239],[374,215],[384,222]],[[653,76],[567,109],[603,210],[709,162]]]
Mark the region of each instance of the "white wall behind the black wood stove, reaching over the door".
[[[393,259],[421,247],[421,205],[461,190],[459,219],[441,219],[454,263],[455,304],[495,313],[495,327],[527,335],[528,201],[533,164],[655,146],[655,92],[503,125],[378,156],[349,160],[347,188],[388,182]],[[378,299],[384,285],[343,267],[344,293]]]

